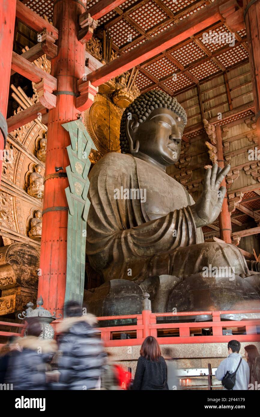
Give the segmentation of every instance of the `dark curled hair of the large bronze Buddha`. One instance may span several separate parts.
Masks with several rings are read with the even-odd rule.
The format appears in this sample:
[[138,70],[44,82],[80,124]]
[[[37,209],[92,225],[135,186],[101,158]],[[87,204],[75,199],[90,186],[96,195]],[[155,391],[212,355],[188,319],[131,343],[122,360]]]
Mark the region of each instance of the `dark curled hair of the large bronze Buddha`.
[[176,113],[187,124],[187,114],[184,108],[177,102],[176,98],[161,90],[150,90],[147,93],[139,95],[133,103],[126,107],[120,124],[120,148],[121,153],[130,153],[129,143],[126,137],[126,120],[127,114],[136,114],[139,117],[139,123],[143,123],[149,114],[156,108],[167,108]]

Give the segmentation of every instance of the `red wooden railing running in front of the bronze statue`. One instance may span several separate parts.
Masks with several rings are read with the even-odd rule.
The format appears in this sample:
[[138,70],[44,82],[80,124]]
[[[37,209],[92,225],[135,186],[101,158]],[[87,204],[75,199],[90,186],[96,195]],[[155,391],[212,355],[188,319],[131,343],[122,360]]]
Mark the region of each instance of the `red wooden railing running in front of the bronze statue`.
[[[260,313],[260,310],[232,310],[232,311],[187,311],[173,313],[152,313],[150,310],[143,310],[141,314],[131,314],[124,316],[97,317],[99,323],[105,320],[136,319],[136,324],[123,326],[98,327],[101,332],[101,339],[106,347],[113,346],[135,346],[140,345],[147,336],[157,337],[159,344],[185,344],[185,343],[219,343],[228,342],[236,339],[239,342],[260,342],[260,319],[243,319],[232,321],[221,321],[221,314],[248,314]],[[184,317],[184,316],[212,316],[212,322],[177,322],[177,323],[157,323],[157,317]],[[55,320],[52,325],[56,330],[56,325],[61,320]],[[0,322],[0,326],[13,326],[23,328],[23,324]],[[258,327],[258,334],[257,334]],[[193,336],[191,329],[212,328],[212,334],[208,336]],[[241,328],[244,334],[224,335],[223,329]],[[158,337],[158,330],[170,331],[177,330],[179,335]],[[131,339],[115,339],[120,333],[131,332]],[[134,333],[134,334],[133,334]],[[23,329],[22,329],[23,335]],[[0,336],[21,336],[20,333],[0,331]]]

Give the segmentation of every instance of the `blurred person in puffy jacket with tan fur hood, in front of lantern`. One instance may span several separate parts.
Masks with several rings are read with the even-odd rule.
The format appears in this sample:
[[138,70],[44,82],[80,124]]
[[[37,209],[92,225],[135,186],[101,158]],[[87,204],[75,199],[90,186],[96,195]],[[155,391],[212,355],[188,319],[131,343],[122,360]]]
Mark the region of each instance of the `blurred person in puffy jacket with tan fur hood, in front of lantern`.
[[57,351],[55,340],[40,339],[42,328],[38,319],[29,322],[26,337],[19,339],[20,352],[10,356],[5,382],[14,390],[48,389],[46,372],[48,363]]

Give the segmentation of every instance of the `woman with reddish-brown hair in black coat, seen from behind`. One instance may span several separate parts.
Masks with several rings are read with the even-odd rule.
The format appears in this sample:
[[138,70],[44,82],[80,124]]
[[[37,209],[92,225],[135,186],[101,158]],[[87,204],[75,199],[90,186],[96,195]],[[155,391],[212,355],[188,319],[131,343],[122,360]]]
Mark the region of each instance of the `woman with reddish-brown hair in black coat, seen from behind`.
[[134,390],[168,390],[167,367],[157,340],[144,340],[134,375]]

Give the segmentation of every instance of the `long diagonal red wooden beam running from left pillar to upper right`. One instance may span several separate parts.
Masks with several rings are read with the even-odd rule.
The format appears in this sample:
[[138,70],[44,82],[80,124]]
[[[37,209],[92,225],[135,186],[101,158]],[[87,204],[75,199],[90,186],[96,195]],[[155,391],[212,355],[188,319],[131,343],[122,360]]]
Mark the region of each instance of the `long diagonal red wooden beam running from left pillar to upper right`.
[[206,29],[217,21],[221,20],[219,8],[225,4],[225,0],[216,0],[209,6],[206,6],[197,13],[194,13],[185,19],[185,26],[183,23],[177,23],[171,28],[168,28],[163,33],[149,39],[143,44],[137,46],[133,50],[119,56],[110,63],[98,68],[87,76],[87,81],[82,79],[78,82],[79,85],[90,81],[94,87],[98,87],[116,77],[119,73],[123,73],[130,68],[142,63],[144,60],[152,58],[160,52],[171,48],[177,43],[189,38],[197,32]]

